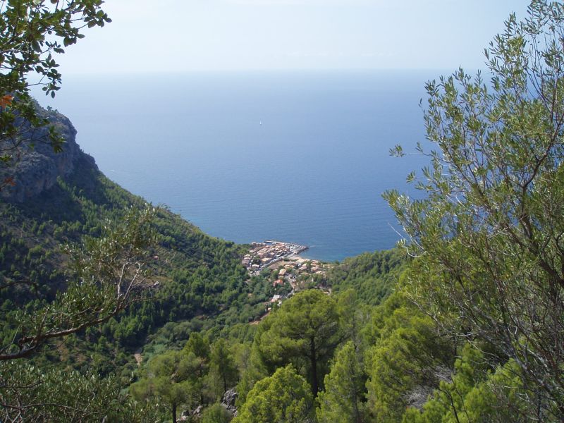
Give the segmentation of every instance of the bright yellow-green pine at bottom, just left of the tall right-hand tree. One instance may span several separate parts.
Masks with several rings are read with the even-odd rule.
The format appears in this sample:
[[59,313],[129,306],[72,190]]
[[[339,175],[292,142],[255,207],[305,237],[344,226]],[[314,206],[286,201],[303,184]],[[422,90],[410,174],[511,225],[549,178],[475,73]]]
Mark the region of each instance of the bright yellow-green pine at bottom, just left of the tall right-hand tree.
[[398,422],[407,406],[424,402],[420,392],[439,385],[455,347],[400,293],[375,310],[366,331],[372,339],[365,359],[369,410],[379,422]]

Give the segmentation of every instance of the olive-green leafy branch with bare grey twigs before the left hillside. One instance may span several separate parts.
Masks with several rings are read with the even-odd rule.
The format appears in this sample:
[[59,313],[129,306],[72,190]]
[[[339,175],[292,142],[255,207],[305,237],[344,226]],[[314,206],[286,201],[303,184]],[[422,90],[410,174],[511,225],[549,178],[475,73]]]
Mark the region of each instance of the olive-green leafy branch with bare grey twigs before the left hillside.
[[[102,238],[86,238],[81,250],[68,247],[75,276],[53,302],[39,302],[11,314],[13,343],[0,360],[25,357],[44,343],[108,321],[147,288],[145,265],[155,242],[154,210],[133,209],[123,223],[108,223]],[[17,284],[17,282],[13,282]]]

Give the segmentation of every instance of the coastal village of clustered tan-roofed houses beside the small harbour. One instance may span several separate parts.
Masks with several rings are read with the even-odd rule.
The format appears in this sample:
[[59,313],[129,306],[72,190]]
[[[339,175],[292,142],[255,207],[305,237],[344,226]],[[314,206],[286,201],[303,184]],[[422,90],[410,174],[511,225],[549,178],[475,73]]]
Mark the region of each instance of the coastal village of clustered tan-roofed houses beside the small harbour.
[[281,292],[272,296],[266,305],[266,312],[271,310],[272,305],[281,305],[283,300],[290,298],[306,285],[314,283],[317,288],[321,288],[326,271],[331,266],[318,260],[300,257],[299,253],[307,250],[304,245],[269,240],[264,243],[252,243],[251,246],[243,257],[243,266],[251,275],[269,272],[273,288],[278,288]]

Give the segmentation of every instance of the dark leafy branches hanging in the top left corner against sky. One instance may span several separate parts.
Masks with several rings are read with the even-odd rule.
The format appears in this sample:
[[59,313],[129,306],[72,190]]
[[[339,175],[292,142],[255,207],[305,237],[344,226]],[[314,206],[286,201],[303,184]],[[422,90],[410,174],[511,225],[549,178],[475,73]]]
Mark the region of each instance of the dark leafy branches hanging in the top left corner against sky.
[[[111,22],[102,0],[8,0],[0,4],[0,166],[14,164],[32,147],[34,131],[48,124],[30,97],[30,80],[55,96],[61,84],[53,54],[84,37],[84,27]],[[62,43],[62,44],[61,44]],[[54,128],[44,142],[60,151],[63,140]],[[0,168],[1,170],[1,168]],[[10,178],[0,181],[0,190]]]

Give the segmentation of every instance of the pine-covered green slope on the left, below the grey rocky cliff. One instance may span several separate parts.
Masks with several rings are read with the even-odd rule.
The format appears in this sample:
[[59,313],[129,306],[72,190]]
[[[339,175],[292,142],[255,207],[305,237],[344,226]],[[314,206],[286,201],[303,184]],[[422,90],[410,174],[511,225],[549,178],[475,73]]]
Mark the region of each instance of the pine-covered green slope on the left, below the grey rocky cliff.
[[[63,127],[63,148],[76,152],[72,170],[61,171],[49,188],[43,183],[44,173],[30,176],[26,169],[32,164],[35,170],[49,167],[49,160],[59,156],[49,146],[35,149],[37,153],[25,157],[13,173],[17,184],[13,190],[26,192],[25,185],[35,187],[38,179],[44,184],[42,189],[18,197],[9,195],[10,187],[4,188],[8,197],[0,203],[0,303],[1,352],[5,355],[21,350],[22,319],[40,318],[49,304],[59,300],[69,279],[83,277],[74,262],[76,252],[87,250],[91,240],[109,236],[132,210],[139,213],[147,208],[144,200],[112,183],[91,157],[80,152],[75,130],[66,118],[54,111],[41,113]],[[156,236],[145,251],[146,286],[135,303],[101,326],[77,331],[62,344],[54,338],[32,354],[25,353],[26,360],[47,367],[60,364],[97,377],[117,372],[129,378],[137,367],[133,351],[167,323],[168,329],[159,332],[159,336],[166,333],[161,341],[166,345],[188,340],[190,332],[204,326],[220,331],[224,324],[247,324],[264,314],[264,301],[273,288],[260,277],[255,277],[252,287],[248,284],[249,276],[240,264],[243,246],[205,235],[164,208],[156,209],[151,226]],[[59,312],[56,319],[65,313],[64,309]],[[175,324],[170,333],[173,322],[183,324]],[[55,321],[54,325],[60,324]],[[21,376],[11,372],[16,379]]]

